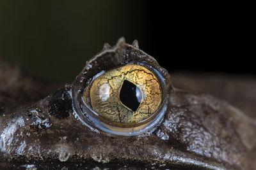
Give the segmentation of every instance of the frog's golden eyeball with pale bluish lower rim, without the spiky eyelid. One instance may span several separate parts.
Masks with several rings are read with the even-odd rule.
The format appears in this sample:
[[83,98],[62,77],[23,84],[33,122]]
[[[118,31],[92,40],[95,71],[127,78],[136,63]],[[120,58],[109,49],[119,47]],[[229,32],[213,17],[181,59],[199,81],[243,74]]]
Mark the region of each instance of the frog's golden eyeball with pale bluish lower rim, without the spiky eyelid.
[[159,123],[166,110],[165,90],[156,69],[132,63],[94,76],[81,98],[90,109],[86,117],[97,128],[132,136]]

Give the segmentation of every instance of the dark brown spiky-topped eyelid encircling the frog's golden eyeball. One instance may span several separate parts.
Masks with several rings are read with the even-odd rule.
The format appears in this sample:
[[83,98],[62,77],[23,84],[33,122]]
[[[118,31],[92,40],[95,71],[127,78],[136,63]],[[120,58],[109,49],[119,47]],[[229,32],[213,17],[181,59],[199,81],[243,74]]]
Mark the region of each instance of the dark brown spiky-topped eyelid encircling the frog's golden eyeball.
[[[166,69],[159,66],[154,57],[143,52],[143,50],[140,50],[138,45],[129,45],[125,43],[124,38],[120,38],[118,39],[115,46],[108,45],[108,48],[105,48],[104,46],[101,52],[97,53],[97,55],[95,55],[92,59],[86,62],[86,65],[82,69],[81,73],[79,73],[76,76],[76,79],[73,81],[71,85],[71,90],[69,91],[70,96],[72,96],[74,117],[77,118],[77,120],[79,120],[83,125],[89,127],[91,131],[100,133],[100,131],[98,131],[99,128],[97,129],[97,127],[95,127],[92,122],[88,121],[88,117],[86,116],[86,114],[80,114],[81,112],[79,111],[83,110],[83,104],[81,100],[77,98],[77,96],[82,95],[81,93],[83,93],[84,87],[88,87],[88,84],[90,83],[90,81],[93,80],[93,77],[95,77],[95,75],[102,74],[104,73],[104,71],[114,67],[124,66],[125,64],[132,61],[138,61],[148,64],[148,66],[152,66],[154,70],[157,70],[159,72],[161,80],[163,80],[164,84],[166,85],[166,97],[164,97],[164,101],[162,104],[163,115],[165,114],[166,106],[169,103],[168,94],[174,89],[174,87],[172,86],[172,81],[170,80],[170,74]],[[86,112],[86,110],[83,111],[83,113]],[[159,120],[158,124],[150,127],[152,129],[147,129],[147,131],[154,131],[159,126],[159,124],[163,122],[163,120],[164,117]],[[133,136],[133,134],[126,136]]]

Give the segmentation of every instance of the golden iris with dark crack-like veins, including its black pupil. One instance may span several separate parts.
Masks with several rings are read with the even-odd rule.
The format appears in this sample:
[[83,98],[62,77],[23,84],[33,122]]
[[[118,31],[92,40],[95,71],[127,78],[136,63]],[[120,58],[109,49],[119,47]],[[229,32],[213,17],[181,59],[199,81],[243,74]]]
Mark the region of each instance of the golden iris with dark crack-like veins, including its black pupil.
[[83,97],[104,122],[129,124],[150,118],[161,105],[162,91],[152,71],[129,64],[97,77]]

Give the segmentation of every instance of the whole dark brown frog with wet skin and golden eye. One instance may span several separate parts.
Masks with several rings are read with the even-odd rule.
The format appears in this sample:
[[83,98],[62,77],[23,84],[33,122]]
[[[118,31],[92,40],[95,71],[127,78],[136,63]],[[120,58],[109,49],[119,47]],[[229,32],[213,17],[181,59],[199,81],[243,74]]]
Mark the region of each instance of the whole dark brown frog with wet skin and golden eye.
[[[226,92],[219,83],[211,83],[216,86],[212,90],[209,81],[196,81],[202,75],[170,74],[139,48],[138,41],[130,45],[124,38],[115,46],[104,44],[75,80],[65,85],[41,82],[19,67],[0,61],[4,73],[0,76],[1,169],[256,167],[253,88],[246,93],[250,102],[242,102],[239,109],[232,104],[237,103],[236,97],[246,98],[242,92],[237,96],[234,93],[232,99],[220,99],[230,90]],[[131,79],[126,77],[134,71]],[[143,78],[147,83],[136,82]],[[152,80],[154,83],[150,83]],[[113,86],[109,86],[111,81]],[[118,86],[119,81],[122,83]],[[246,82],[256,85],[253,80]],[[143,91],[143,85],[149,90]],[[234,83],[232,92],[236,87]],[[118,94],[111,94],[113,88],[119,89]],[[133,98],[128,97],[130,101],[125,103],[132,93]],[[132,111],[129,104],[133,100],[139,103],[134,110],[144,106],[142,100],[149,100],[145,107],[150,114]],[[106,110],[111,110],[111,117],[106,116]],[[125,110],[129,110],[125,112],[129,117],[122,115]]]

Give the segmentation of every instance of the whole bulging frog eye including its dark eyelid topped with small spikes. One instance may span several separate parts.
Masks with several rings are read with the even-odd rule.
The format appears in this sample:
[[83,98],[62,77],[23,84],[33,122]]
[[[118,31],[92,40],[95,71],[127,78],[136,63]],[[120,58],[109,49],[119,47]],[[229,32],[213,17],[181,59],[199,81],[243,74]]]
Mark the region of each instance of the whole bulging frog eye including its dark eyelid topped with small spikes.
[[74,116],[96,132],[153,131],[167,108],[168,75],[136,41],[128,45],[121,38],[114,47],[104,45],[72,83]]

